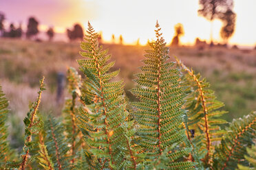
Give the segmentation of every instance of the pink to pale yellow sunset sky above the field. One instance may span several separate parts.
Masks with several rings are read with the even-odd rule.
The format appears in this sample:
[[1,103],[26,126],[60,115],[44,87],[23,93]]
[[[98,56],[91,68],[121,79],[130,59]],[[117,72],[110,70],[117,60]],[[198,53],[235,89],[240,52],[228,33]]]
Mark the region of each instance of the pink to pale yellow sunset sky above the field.
[[[255,46],[256,43],[256,1],[234,0],[237,14],[235,34],[231,44]],[[67,27],[87,21],[94,29],[103,33],[105,41],[111,41],[111,34],[122,37],[127,44],[140,38],[143,45],[154,38],[156,21],[160,23],[164,39],[171,42],[174,25],[184,25],[182,43],[192,45],[195,38],[209,40],[211,23],[198,16],[198,0],[1,0],[0,11],[6,14],[8,22],[25,25],[29,16],[39,20],[41,30],[54,26],[56,32],[65,33]],[[7,23],[6,23],[7,24]],[[220,21],[213,22],[213,38],[220,39]]]

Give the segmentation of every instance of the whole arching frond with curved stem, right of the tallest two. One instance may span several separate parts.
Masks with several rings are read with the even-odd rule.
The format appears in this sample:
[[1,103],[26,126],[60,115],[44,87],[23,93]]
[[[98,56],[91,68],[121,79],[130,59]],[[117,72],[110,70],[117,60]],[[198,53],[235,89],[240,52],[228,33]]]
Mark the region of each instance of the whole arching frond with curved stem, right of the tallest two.
[[205,165],[211,165],[213,162],[213,152],[217,141],[221,140],[224,134],[218,125],[226,123],[223,119],[219,119],[225,111],[219,110],[224,104],[217,101],[213,90],[209,89],[209,83],[196,75],[192,69],[187,68],[178,58],[176,58],[178,66],[184,73],[184,86],[189,88],[189,96],[186,97],[186,109],[188,112],[189,130],[195,133],[193,143],[198,147]]

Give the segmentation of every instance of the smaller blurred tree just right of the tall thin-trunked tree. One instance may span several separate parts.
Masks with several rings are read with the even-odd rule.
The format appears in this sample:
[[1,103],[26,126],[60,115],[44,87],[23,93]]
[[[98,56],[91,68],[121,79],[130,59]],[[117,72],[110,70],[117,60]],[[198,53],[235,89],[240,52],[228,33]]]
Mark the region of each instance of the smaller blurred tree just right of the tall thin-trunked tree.
[[236,16],[237,15],[232,10],[227,10],[221,18],[223,26],[220,30],[220,36],[225,44],[228,43],[229,38],[231,38],[235,32]]

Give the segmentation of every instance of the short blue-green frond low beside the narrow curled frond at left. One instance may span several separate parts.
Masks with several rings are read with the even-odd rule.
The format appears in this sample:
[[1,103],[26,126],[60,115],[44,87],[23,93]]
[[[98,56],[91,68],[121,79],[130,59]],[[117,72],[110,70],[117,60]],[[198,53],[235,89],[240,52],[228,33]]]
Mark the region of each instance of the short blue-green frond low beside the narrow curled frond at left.
[[65,138],[64,130],[61,121],[53,117],[49,117],[45,121],[45,145],[54,164],[54,169],[58,170],[72,169],[71,161],[73,157],[68,154],[70,141]]

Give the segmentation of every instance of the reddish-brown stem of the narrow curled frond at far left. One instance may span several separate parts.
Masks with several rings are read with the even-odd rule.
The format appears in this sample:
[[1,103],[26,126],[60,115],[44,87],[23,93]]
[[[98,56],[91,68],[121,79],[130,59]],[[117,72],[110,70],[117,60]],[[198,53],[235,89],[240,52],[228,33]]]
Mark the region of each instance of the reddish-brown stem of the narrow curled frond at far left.
[[[40,90],[39,90],[39,97],[37,97],[37,100],[36,100],[36,105],[34,106],[34,111],[32,112],[32,115],[31,115],[31,118],[30,118],[30,125],[28,126],[28,130],[31,130],[32,128],[32,125],[34,124],[34,117],[36,116],[36,112],[39,108],[39,105],[41,103],[41,95],[42,95],[42,92],[43,92],[43,81],[45,80],[45,77],[43,77],[42,81],[41,81],[41,84],[40,84]],[[32,134],[30,134],[26,140],[25,140],[25,143],[30,143],[32,141]],[[20,170],[24,170],[25,167],[26,167],[26,163],[28,161],[28,154],[30,152],[30,149],[28,149],[25,153],[25,156],[23,156],[23,159],[22,159],[22,162],[21,162],[21,166],[19,167]]]

